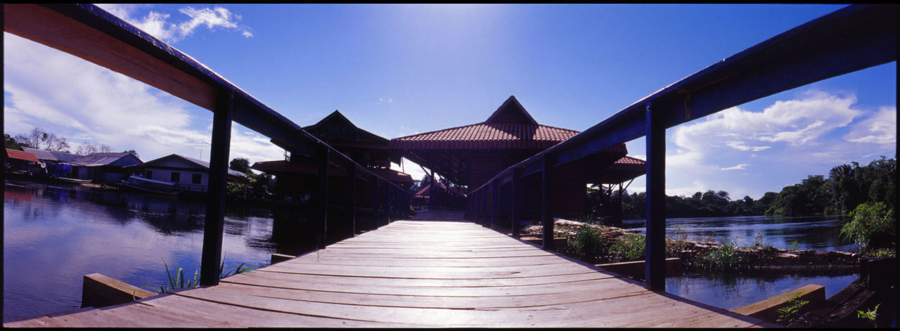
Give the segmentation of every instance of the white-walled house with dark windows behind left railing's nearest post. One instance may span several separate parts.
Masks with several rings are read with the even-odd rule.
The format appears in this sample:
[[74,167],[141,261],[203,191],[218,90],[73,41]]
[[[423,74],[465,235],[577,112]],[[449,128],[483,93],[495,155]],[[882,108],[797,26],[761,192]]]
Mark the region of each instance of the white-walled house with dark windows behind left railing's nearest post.
[[[206,192],[210,180],[210,163],[193,157],[172,154],[141,165],[129,167],[131,173],[143,178],[174,183],[175,191]],[[249,183],[247,174],[228,170],[228,179],[235,183]]]

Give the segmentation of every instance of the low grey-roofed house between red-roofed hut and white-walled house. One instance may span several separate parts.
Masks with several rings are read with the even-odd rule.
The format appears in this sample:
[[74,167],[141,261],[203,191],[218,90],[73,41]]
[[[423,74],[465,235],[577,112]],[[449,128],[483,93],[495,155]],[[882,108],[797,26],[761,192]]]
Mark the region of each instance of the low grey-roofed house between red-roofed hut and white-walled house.
[[130,153],[92,153],[71,161],[72,174],[77,179],[101,183],[119,183],[128,177],[124,167],[143,162]]

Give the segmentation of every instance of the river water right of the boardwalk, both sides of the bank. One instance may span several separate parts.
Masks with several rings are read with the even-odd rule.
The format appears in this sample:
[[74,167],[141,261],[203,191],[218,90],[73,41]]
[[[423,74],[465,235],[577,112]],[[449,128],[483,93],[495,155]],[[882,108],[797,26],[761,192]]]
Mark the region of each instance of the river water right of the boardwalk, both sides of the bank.
[[[843,222],[842,216],[666,219],[666,237],[719,243],[727,240],[737,246],[752,246],[759,240],[782,249],[857,252],[855,244],[841,239]],[[623,228],[644,233],[644,219],[626,219],[622,223]],[[685,273],[667,277],[666,291],[712,306],[737,309],[808,284],[824,286],[828,298],[859,277],[859,273],[846,271],[803,275]]]

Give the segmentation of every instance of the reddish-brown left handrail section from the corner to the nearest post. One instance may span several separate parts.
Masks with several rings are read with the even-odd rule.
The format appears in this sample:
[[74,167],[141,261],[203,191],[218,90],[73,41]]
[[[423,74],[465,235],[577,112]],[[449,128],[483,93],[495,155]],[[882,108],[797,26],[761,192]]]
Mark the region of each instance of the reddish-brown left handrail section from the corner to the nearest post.
[[[111,34],[117,30],[120,32]],[[175,67],[178,58],[184,54],[99,7],[4,4],[4,31],[84,58],[207,110],[215,110],[216,87],[185,72],[188,69],[185,66]],[[147,44],[147,47],[139,48],[136,46],[139,44]],[[150,53],[148,50],[155,51]]]

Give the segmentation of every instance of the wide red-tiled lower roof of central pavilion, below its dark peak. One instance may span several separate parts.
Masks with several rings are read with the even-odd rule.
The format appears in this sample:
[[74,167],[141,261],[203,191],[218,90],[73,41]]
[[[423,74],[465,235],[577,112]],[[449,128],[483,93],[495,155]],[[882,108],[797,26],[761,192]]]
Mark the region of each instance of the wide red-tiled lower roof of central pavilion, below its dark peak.
[[392,139],[391,148],[550,148],[578,133],[540,124],[481,122]]

